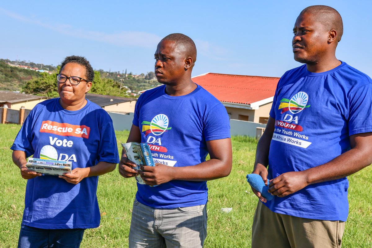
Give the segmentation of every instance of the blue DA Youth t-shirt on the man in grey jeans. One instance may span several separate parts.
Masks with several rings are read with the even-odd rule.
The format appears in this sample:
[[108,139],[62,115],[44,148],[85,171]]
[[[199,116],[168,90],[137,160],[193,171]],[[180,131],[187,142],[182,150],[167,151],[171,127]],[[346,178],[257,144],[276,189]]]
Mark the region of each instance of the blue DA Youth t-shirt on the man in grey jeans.
[[[140,128],[141,142],[150,145],[154,162],[168,166],[200,164],[208,154],[206,141],[230,138],[225,107],[201,86],[185,96],[169,96],[165,86],[145,91],[136,103],[133,124]],[[138,202],[154,208],[197,206],[208,197],[206,181],[137,187]]]

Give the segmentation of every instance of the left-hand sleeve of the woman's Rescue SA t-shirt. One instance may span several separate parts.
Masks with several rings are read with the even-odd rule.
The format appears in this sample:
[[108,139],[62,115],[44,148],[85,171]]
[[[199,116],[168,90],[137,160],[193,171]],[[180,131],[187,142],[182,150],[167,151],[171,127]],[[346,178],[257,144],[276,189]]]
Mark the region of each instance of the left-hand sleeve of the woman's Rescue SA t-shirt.
[[32,113],[33,112],[31,111],[31,113],[26,117],[12,147],[10,147],[13,151],[24,151],[27,158],[35,153],[32,148]]

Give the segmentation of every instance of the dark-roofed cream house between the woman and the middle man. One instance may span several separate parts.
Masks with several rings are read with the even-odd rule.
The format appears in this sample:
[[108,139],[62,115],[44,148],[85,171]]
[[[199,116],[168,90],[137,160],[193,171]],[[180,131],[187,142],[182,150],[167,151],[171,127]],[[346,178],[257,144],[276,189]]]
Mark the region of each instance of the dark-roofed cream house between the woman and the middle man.
[[92,93],[87,93],[85,98],[93,103],[96,103],[107,112],[118,113],[134,113],[134,106],[137,102],[137,99]]

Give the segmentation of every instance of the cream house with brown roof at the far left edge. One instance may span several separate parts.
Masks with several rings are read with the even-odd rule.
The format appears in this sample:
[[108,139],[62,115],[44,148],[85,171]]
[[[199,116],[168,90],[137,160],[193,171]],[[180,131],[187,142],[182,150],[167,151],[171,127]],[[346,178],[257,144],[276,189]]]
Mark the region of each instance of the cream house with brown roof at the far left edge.
[[36,104],[47,99],[49,97],[0,90],[0,106],[6,105],[9,109],[19,110],[22,106],[25,109],[32,109]]

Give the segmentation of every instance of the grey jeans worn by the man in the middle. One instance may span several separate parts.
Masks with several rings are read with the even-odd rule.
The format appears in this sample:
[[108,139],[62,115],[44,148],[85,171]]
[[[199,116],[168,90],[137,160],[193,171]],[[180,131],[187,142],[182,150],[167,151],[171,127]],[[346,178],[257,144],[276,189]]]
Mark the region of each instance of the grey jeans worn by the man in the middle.
[[198,248],[206,235],[205,205],[154,209],[134,200],[129,248]]

